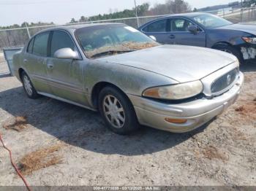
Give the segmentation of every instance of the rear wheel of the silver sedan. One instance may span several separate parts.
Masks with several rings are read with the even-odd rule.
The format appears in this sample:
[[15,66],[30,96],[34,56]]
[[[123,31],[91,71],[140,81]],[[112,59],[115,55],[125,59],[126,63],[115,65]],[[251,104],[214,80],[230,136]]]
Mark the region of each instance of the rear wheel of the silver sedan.
[[34,86],[32,85],[32,82],[25,71],[22,72],[21,79],[22,79],[23,88],[26,92],[26,95],[28,95],[28,97],[31,99],[38,98],[39,94],[37,93],[37,90],[34,89]]

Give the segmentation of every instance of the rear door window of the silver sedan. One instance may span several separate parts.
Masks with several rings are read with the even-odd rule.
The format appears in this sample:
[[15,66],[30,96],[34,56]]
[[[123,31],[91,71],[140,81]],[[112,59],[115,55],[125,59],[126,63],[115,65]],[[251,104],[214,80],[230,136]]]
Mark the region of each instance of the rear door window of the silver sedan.
[[50,32],[38,34],[34,39],[33,53],[35,55],[47,56],[48,52],[48,38]]

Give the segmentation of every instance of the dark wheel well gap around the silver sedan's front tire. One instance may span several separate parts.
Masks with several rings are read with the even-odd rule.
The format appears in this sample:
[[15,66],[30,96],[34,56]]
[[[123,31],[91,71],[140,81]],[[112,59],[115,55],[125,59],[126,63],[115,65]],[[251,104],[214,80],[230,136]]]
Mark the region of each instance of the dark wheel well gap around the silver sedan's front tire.
[[[104,88],[104,87],[114,87],[117,90],[121,91],[121,93],[124,93],[123,90],[121,90],[119,87],[116,85],[111,84],[110,82],[98,82],[96,85],[94,85],[92,92],[91,92],[91,102],[94,107],[98,108],[98,98],[99,98],[99,92]],[[124,93],[124,95],[126,95]],[[127,95],[126,95],[127,96]],[[128,97],[127,97],[128,98]]]

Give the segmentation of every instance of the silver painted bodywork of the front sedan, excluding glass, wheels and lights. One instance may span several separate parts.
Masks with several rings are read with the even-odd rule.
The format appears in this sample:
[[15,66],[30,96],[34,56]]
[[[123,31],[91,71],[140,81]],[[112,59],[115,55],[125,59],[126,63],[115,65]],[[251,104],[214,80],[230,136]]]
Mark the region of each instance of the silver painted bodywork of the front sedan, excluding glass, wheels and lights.
[[[203,83],[203,93],[211,96],[210,83],[238,67],[237,59],[226,52],[178,45],[89,59],[75,39],[74,31],[79,27],[81,26],[46,31],[67,31],[77,47],[80,60],[42,58],[26,52],[26,45],[22,52],[14,56],[15,76],[20,79],[19,69],[23,69],[40,94],[94,111],[97,110],[92,96],[94,87],[102,82],[109,83],[129,97],[140,124],[173,132],[185,132],[203,125],[233,104],[241,90],[244,76],[240,73],[235,84],[227,87],[222,95],[211,99],[204,97],[183,104],[163,104],[143,98],[143,91],[149,87],[197,79]],[[24,62],[30,57],[34,60]],[[165,117],[181,117],[188,119],[188,122],[183,125],[171,124],[165,121]]]

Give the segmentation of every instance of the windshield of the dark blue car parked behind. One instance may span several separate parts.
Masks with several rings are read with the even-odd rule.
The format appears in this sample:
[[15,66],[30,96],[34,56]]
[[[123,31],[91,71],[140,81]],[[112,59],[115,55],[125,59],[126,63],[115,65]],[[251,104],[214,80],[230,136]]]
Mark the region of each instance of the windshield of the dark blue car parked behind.
[[206,28],[217,28],[220,26],[228,26],[233,24],[222,17],[209,14],[197,15],[195,17],[192,17],[192,19]]

